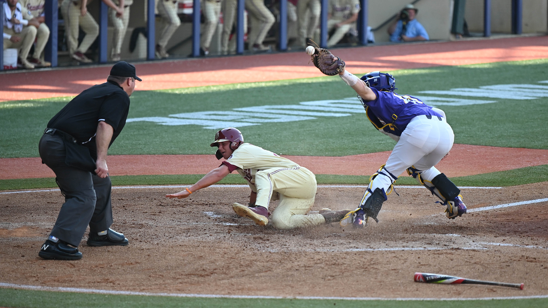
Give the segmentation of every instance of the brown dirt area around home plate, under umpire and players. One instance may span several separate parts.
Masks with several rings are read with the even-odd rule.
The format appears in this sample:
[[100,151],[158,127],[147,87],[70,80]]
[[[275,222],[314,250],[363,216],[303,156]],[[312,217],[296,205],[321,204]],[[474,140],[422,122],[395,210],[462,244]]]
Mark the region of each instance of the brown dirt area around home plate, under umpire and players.
[[[474,209],[546,198],[547,184],[463,189],[463,195]],[[125,233],[130,244],[92,248],[85,246],[85,236],[79,261],[37,256],[63,203],[58,191],[0,195],[2,282],[226,295],[548,294],[546,202],[448,220],[424,188],[399,188],[400,196],[392,193],[385,202],[380,223],[365,230],[332,224],[280,231],[255,226],[232,212],[230,204],[246,202],[248,189],[209,187],[188,199],[163,197],[174,190],[113,190],[112,227]],[[361,188],[320,186],[312,210],[353,207],[362,193]],[[414,283],[415,271],[524,282],[525,288]]]

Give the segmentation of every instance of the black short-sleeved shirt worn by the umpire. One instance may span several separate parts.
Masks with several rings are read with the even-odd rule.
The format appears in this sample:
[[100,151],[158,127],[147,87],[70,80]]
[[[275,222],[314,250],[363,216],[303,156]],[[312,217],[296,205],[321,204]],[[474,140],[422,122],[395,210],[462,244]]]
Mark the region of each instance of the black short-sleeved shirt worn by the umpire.
[[95,133],[99,121],[112,126],[114,132],[110,145],[120,134],[128,117],[129,96],[115,82],[96,84],[73,98],[48,122],[48,128],[59,129],[88,147],[97,159]]

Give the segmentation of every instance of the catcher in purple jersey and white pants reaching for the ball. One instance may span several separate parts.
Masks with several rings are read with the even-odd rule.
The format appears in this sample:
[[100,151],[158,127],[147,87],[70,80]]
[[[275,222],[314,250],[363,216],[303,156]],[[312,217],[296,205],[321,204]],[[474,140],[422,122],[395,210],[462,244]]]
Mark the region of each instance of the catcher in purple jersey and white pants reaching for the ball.
[[440,203],[447,206],[447,218],[465,214],[460,190],[434,167],[453,147],[453,129],[445,113],[417,98],[393,92],[396,81],[390,74],[376,71],[360,79],[346,71],[345,62],[329,50],[315,48],[312,53],[309,47],[307,51],[322,73],[339,74],[358,94],[373,126],[397,141],[386,164],[371,176],[358,208],[348,213],[340,225],[363,227],[369,217],[379,222],[377,215],[393,190],[393,182],[406,170],[442,200]]

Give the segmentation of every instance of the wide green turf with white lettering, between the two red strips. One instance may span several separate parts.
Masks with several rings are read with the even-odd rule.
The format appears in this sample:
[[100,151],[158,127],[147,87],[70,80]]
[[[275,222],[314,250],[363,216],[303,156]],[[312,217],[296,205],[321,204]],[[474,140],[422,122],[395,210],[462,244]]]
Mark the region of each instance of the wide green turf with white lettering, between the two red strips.
[[[423,90],[481,85],[530,83],[548,79],[548,60],[445,66],[391,72],[397,92],[421,96]],[[492,99],[482,105],[440,106],[455,132],[455,143],[548,149],[545,115],[548,98]],[[128,118],[167,117],[198,111],[230,111],[262,105],[355,96],[339,77],[319,77],[250,84],[215,85],[173,90],[138,91],[132,95]],[[428,96],[428,95],[423,95]],[[455,97],[448,95],[436,95]],[[470,99],[470,98],[467,98]],[[474,99],[474,98],[472,98]],[[488,98],[477,98],[488,99]],[[50,118],[70,98],[0,103],[0,157],[38,157],[38,140]],[[111,146],[110,155],[208,154],[215,131],[198,125],[165,126],[127,123]],[[391,150],[395,142],[377,132],[360,113],[317,117],[306,121],[262,123],[241,127],[247,142],[285,155],[345,156]]]

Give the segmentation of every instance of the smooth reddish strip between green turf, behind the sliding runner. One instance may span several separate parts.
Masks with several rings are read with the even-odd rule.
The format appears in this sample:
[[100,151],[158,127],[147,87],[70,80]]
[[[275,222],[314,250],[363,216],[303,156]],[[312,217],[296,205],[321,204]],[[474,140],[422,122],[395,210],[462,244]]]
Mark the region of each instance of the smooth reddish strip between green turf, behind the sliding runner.
[[[371,175],[390,153],[282,156],[315,174]],[[107,162],[110,175],[206,174],[219,166],[214,155],[114,155],[108,156]],[[543,164],[548,164],[548,150],[455,144],[436,168],[448,176],[466,176]],[[0,158],[0,180],[53,177],[39,157]]]

